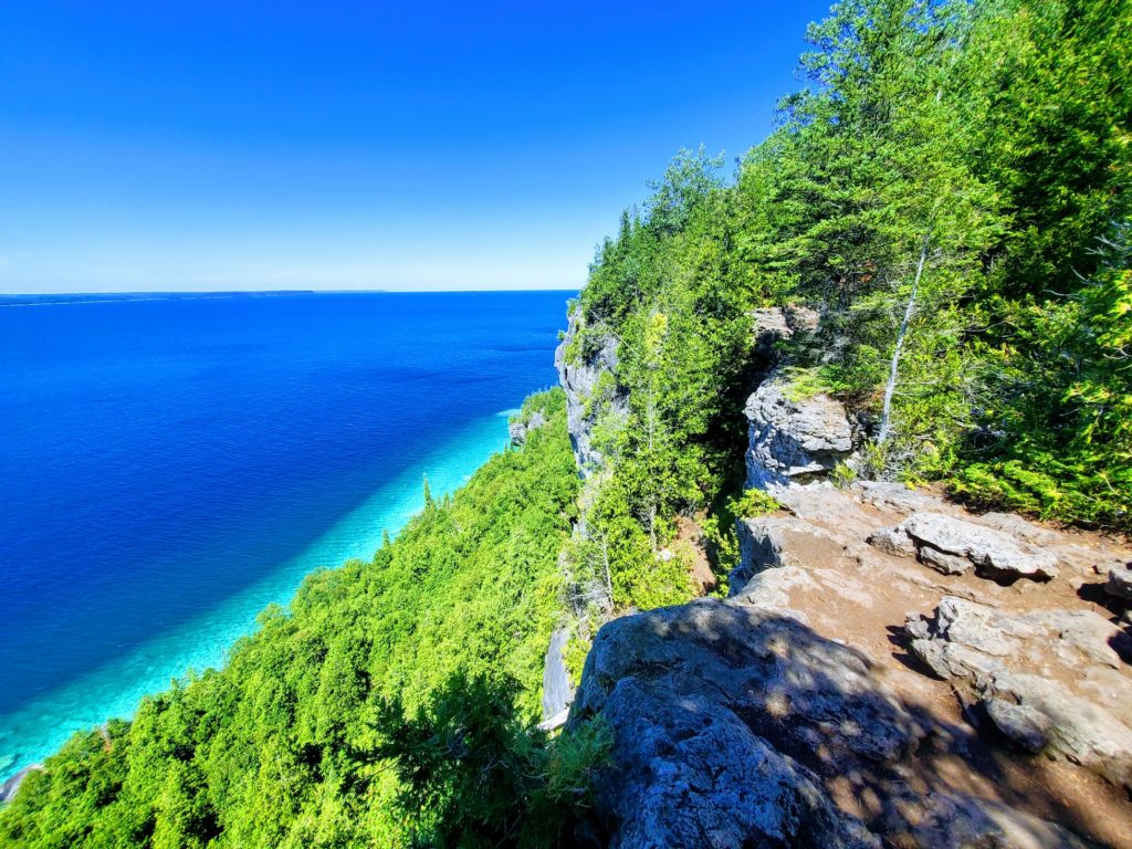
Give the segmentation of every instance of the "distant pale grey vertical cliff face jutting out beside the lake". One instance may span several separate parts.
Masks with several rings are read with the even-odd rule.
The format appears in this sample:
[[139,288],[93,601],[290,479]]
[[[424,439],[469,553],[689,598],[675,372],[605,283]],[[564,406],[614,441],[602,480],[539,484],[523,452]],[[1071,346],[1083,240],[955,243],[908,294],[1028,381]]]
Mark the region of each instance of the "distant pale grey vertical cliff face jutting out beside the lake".
[[582,315],[569,315],[566,335],[555,349],[558,381],[566,393],[566,424],[578,473],[584,478],[600,468],[603,458],[593,445],[593,431],[601,417],[625,418],[628,397],[617,385],[617,340],[598,335],[578,343]]

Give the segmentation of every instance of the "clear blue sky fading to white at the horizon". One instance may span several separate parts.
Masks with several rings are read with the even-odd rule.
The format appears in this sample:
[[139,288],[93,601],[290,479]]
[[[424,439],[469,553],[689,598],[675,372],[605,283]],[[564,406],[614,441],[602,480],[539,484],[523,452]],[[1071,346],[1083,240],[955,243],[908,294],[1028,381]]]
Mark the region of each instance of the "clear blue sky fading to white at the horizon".
[[0,292],[577,288],[829,2],[0,5]]

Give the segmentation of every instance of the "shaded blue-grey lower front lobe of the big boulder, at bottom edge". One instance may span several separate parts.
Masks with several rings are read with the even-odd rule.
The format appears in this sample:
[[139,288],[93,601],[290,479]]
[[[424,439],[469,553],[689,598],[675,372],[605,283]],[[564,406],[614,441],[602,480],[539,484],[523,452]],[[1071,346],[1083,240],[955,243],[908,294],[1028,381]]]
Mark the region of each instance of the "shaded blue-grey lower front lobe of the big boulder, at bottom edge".
[[[604,702],[617,771],[598,782],[616,849],[880,849],[816,775],[703,695],[625,678]],[[645,719],[648,718],[648,722]]]

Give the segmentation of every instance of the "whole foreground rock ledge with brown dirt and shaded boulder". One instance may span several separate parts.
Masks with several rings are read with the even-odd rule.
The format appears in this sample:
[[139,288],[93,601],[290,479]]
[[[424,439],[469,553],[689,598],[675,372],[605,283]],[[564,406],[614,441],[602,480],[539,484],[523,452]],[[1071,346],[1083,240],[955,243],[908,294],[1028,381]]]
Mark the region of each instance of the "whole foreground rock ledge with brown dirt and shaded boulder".
[[599,633],[601,842],[1132,847],[1132,550],[899,484],[777,495],[730,599]]

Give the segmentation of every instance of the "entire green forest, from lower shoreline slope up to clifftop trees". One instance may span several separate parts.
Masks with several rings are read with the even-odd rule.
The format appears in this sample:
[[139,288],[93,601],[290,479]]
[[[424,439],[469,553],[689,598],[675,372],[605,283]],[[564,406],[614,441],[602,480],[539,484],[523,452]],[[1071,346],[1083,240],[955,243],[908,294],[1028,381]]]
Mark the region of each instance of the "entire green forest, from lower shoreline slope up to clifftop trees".
[[773,506],[741,495],[760,307],[820,315],[780,353],[790,392],[865,435],[841,480],[1132,531],[1132,0],[859,0],[807,41],[734,173],[681,152],[598,248],[563,351],[617,355],[583,411],[603,457],[584,490],[561,394],[537,396],[522,449],[372,563],[311,576],[226,669],[72,739],[0,838],[568,835],[602,736],[531,729],[547,636],[573,606],[576,670],[591,617],[695,593],[681,522],[724,574],[735,515]]

